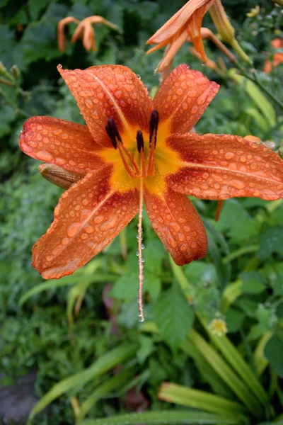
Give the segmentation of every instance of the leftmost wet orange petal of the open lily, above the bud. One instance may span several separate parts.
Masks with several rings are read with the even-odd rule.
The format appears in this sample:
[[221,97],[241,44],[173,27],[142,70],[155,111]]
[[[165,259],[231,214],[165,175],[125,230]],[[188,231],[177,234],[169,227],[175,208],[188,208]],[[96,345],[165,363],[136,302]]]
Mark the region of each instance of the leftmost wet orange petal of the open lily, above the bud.
[[76,173],[93,171],[103,165],[96,153],[102,148],[94,142],[86,125],[52,117],[33,117],[25,121],[19,145],[25,154]]

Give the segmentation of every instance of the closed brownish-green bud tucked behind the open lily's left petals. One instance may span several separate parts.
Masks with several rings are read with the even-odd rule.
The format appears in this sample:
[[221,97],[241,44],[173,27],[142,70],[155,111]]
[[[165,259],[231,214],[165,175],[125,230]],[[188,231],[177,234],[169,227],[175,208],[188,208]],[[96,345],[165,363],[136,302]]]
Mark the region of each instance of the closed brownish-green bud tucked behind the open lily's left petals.
[[72,184],[85,176],[83,173],[71,173],[54,164],[41,164],[38,171],[47,181],[63,189],[69,189]]

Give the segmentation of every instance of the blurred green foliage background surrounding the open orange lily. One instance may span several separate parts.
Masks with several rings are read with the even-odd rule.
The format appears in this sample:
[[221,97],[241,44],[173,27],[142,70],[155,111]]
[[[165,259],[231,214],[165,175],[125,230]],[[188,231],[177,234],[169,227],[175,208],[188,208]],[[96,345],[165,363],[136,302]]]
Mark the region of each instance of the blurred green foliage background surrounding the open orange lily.
[[[253,60],[258,79],[282,100],[282,65],[271,74],[262,72],[265,60],[273,53],[270,40],[282,38],[281,8],[272,1],[223,3],[238,41]],[[212,390],[197,362],[180,346],[191,327],[201,329],[200,317],[207,323],[221,318],[226,321],[229,339],[255,371],[259,361],[255,348],[260,341],[268,341],[260,375],[270,395],[271,420],[283,407],[281,201],[227,200],[216,223],[216,203],[194,200],[207,228],[209,252],[203,261],[182,269],[172,266],[145,215],[144,324],[139,323],[137,309],[137,220],[97,259],[72,277],[51,282],[45,290],[40,291],[42,279],[30,266],[31,248],[52,221],[62,191],[44,181],[35,161],[18,149],[24,120],[33,115],[52,115],[83,123],[74,98],[59,79],[58,63],[69,69],[125,64],[141,76],[149,91],[158,86],[154,68],[162,52],[145,55],[145,42],[183,4],[180,0],[28,0],[19,7],[15,0],[0,0],[0,73],[4,82],[13,81],[7,85],[0,79],[1,385],[9,385],[15,375],[36,368],[35,394],[41,397],[52,385],[127,342],[135,347],[129,365],[132,380],[128,379],[128,386],[120,393],[109,391],[108,398],[96,403],[88,414],[94,418],[126,412],[125,394],[133,385],[149,400],[149,409],[167,409],[168,404],[158,399],[158,388],[164,381]],[[261,6],[260,13],[247,18],[246,13],[256,4]],[[66,16],[81,20],[93,14],[117,24],[123,33],[97,26],[98,52],[86,52],[80,41],[75,45],[68,42],[66,52],[59,52],[58,21]],[[214,30],[208,15],[204,26]],[[67,40],[74,28],[71,24],[66,29]],[[210,58],[216,61],[221,57],[228,69],[233,67],[212,44],[206,42],[205,47]],[[262,106],[257,89],[248,89],[246,82],[236,84],[231,71],[219,75],[203,67],[190,55],[187,45],[174,60],[175,65],[182,62],[221,84],[219,94],[197,124],[197,132],[253,134],[264,141],[273,140],[279,149],[283,111],[266,94],[267,103]],[[121,254],[121,245],[127,247],[127,260]],[[115,321],[114,334],[103,302],[108,283],[112,284],[108,297],[113,300],[110,315]],[[229,295],[232,288],[238,290],[235,297]],[[28,290],[35,295],[25,297]],[[192,300],[190,305],[186,297]],[[78,302],[82,306],[79,317],[75,317]],[[79,402],[99,382],[99,378],[88,382],[77,395]],[[73,396],[70,391],[62,395],[49,411],[36,416],[34,423],[73,424],[69,402]],[[262,416],[260,420],[264,419]]]

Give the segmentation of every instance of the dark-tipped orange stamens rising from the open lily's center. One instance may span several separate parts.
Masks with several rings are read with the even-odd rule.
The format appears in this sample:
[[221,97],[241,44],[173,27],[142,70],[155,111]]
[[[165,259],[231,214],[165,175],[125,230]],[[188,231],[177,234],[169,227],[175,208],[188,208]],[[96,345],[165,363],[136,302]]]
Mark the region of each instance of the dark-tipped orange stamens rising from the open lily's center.
[[157,142],[158,120],[158,111],[154,109],[149,117],[149,149],[146,149],[147,154],[144,152],[144,135],[141,130],[137,130],[137,152],[139,153],[139,161],[137,162],[131,152],[123,145],[115,121],[113,118],[108,118],[105,130],[114,149],[118,149],[125,170],[132,179],[154,176],[154,151]]

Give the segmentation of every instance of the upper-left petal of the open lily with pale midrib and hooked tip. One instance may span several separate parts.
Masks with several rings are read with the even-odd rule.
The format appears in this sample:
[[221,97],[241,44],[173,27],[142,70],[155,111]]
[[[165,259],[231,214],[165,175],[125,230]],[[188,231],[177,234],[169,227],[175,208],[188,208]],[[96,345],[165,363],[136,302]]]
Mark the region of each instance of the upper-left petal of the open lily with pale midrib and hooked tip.
[[149,131],[152,101],[131,69],[121,65],[102,65],[81,69],[57,67],[99,145],[112,147],[105,132],[108,118],[115,120],[125,145],[135,140],[137,129]]

